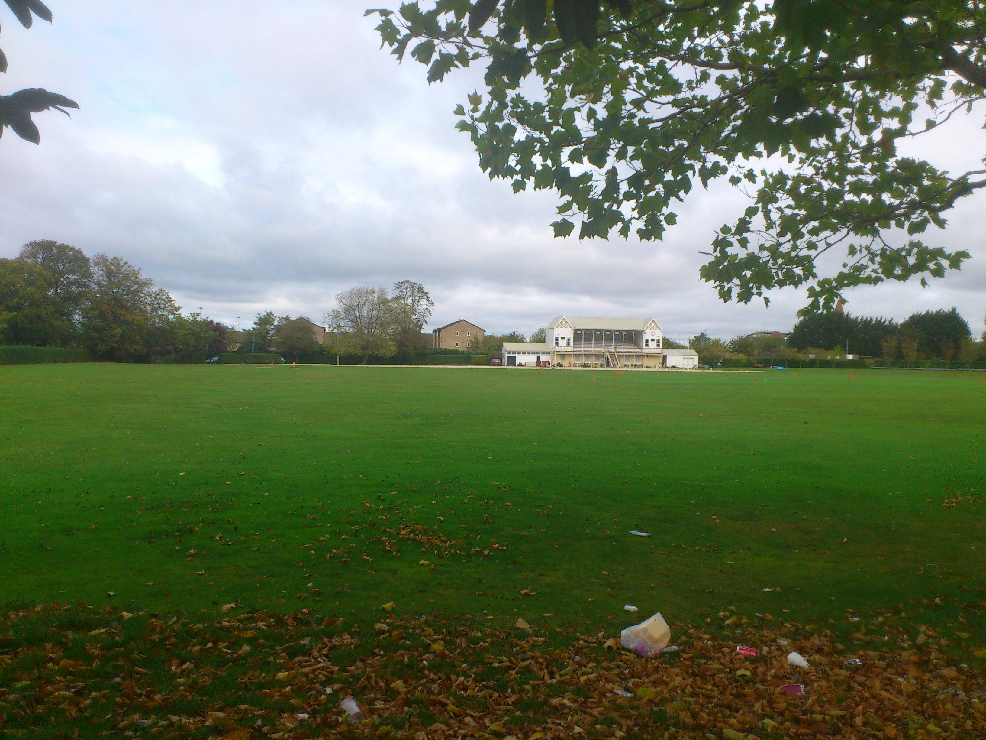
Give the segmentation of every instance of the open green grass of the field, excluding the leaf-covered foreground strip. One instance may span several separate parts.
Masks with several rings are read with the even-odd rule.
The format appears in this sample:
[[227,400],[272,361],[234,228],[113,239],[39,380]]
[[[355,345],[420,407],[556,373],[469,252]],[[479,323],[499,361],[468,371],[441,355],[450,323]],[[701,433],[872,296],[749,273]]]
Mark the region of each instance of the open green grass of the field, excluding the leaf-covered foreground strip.
[[977,373],[2,367],[0,602],[955,624],[984,431]]

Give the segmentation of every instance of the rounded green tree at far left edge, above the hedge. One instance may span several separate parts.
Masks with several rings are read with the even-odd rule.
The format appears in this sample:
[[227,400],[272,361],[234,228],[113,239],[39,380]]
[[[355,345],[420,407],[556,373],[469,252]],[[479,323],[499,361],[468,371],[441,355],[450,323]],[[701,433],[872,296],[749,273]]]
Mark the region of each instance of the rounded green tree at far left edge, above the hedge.
[[0,259],[0,344],[57,346],[74,333],[51,301],[53,278],[24,259]]

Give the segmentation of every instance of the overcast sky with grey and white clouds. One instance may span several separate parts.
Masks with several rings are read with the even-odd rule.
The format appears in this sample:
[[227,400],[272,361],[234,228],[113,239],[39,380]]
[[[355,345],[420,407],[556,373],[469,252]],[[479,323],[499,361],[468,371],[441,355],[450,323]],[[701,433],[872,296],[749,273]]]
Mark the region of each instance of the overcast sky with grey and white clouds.
[[[663,243],[553,239],[557,198],[491,183],[454,130],[475,76],[429,87],[423,67],[398,65],[363,18],[381,2],[51,0],[54,24],[30,31],[3,7],[0,91],[44,87],[82,110],[35,114],[39,147],[10,129],[0,140],[0,257],[33,239],[118,255],[186,311],[244,326],[266,309],[318,321],[340,289],[404,278],[435,300],[431,327],[654,316],[671,336],[728,337],[794,324],[801,292],[723,304],[698,277],[699,251],[746,205],[728,186],[693,193]],[[975,112],[919,153],[981,167]],[[848,309],[899,320],[957,306],[980,333],[984,212],[986,195],[967,199],[930,235],[972,253],[961,272],[858,289]]]

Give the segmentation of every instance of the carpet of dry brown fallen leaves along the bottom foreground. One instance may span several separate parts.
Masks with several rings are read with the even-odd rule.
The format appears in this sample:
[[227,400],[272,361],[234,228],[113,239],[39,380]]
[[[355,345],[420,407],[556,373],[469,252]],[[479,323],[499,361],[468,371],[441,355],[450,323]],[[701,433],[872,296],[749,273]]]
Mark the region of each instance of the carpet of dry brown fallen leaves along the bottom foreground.
[[[392,608],[387,604],[385,609]],[[132,615],[39,606],[0,621],[0,735],[196,738],[981,738],[986,675],[926,639],[852,651],[824,629],[733,642],[674,628],[678,651],[523,620]],[[893,643],[891,643],[893,644]],[[794,668],[798,651],[810,666]],[[804,695],[783,687],[797,684]],[[790,688],[788,691],[792,691]],[[352,697],[365,714],[349,721]]]

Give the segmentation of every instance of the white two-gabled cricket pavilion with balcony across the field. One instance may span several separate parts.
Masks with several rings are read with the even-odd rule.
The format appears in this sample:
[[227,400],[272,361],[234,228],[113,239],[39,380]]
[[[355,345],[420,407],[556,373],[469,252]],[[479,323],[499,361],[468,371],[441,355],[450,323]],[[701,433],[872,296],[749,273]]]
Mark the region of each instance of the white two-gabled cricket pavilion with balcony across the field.
[[502,362],[507,367],[698,367],[694,349],[665,349],[664,338],[655,319],[556,316],[543,342],[504,342]]

